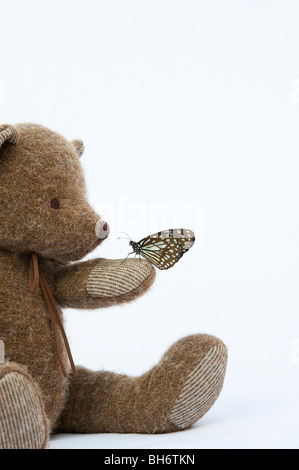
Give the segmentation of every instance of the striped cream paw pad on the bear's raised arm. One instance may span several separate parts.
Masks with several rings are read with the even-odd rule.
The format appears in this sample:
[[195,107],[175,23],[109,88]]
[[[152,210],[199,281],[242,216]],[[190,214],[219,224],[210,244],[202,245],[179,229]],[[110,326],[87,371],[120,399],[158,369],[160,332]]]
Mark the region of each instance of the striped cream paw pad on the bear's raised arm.
[[89,274],[86,289],[91,297],[115,297],[137,289],[152,273],[143,260],[102,260]]

